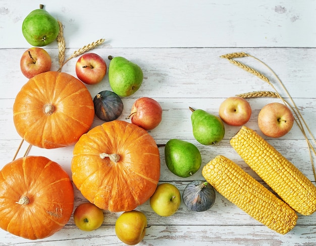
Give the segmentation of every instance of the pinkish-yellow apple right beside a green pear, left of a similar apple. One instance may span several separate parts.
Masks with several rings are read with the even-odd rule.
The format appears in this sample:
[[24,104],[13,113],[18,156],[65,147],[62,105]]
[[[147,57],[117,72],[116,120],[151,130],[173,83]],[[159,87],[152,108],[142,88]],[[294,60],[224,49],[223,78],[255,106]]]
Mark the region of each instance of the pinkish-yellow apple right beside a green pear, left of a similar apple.
[[220,105],[219,115],[227,125],[241,126],[250,119],[251,107],[244,98],[229,97]]

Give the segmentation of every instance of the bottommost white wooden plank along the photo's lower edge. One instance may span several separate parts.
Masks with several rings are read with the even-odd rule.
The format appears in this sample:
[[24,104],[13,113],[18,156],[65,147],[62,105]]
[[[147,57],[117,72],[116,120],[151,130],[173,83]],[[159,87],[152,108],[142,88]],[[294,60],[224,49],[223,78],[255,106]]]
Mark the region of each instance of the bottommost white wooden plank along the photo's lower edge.
[[[288,246],[314,245],[316,226],[296,226],[285,235],[271,232],[271,229],[260,225],[157,225],[146,229],[146,234],[139,246],[150,245],[254,245],[254,246]],[[25,240],[4,233],[6,243],[11,245],[126,245],[117,238],[114,225],[102,225],[95,231],[85,232],[76,230],[75,226],[65,226],[49,238],[41,240]],[[72,237],[69,238],[69,234]]]

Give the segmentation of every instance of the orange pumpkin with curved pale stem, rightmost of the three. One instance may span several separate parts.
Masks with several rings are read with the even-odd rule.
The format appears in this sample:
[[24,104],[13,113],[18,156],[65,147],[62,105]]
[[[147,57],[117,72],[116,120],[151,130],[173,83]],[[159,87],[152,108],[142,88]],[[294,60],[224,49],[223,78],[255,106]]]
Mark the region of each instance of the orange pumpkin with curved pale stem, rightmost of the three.
[[160,153],[144,129],[111,121],[96,126],[75,144],[72,180],[101,209],[131,211],[147,201],[160,178]]

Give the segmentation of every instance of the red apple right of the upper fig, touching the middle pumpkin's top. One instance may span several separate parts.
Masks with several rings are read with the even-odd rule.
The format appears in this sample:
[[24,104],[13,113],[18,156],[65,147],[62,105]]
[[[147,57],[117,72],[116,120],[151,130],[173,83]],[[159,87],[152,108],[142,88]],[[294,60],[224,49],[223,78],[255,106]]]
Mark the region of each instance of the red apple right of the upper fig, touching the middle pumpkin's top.
[[162,121],[162,114],[163,109],[157,101],[143,97],[134,102],[129,118],[133,124],[152,130]]

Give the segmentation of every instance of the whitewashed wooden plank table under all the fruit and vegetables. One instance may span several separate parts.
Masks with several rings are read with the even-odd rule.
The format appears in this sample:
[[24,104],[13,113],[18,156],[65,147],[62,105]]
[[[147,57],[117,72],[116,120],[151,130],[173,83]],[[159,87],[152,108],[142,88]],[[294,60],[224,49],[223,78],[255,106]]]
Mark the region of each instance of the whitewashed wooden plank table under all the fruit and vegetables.
[[[10,1],[0,0],[0,153],[1,168],[10,162],[21,141],[12,116],[16,94],[27,78],[20,71],[22,53],[30,47],[21,32],[26,15],[43,4],[64,25],[66,56],[83,45],[106,38],[93,52],[109,65],[108,55],[123,56],[139,64],[144,72],[143,85],[131,97],[123,98],[129,115],[139,97],[151,97],[163,107],[162,123],[149,133],[157,143],[171,138],[190,141],[200,149],[202,167],[217,154],[237,162],[250,175],[261,180],[241,160],[229,144],[238,127],[226,126],[225,138],[215,146],[200,145],[192,134],[189,106],[218,114],[227,97],[253,91],[272,91],[263,80],[220,58],[231,52],[246,52],[266,62],[279,75],[293,97],[312,133],[316,133],[316,1]],[[57,42],[44,47],[52,57],[52,70],[58,69]],[[76,58],[63,71],[75,74]],[[256,60],[239,59],[264,73],[286,97],[273,74]],[[111,90],[108,77],[88,86],[91,96]],[[252,116],[247,126],[260,135],[256,117],[260,108],[280,99],[248,99]],[[95,119],[93,126],[102,122]],[[305,139],[295,124],[279,139],[265,137],[314,184]],[[23,155],[22,146],[18,157]],[[29,155],[43,155],[58,163],[71,175],[73,147],[39,149]],[[161,183],[172,183],[182,193],[192,180],[202,179],[201,172],[178,178],[166,167],[161,151]],[[313,157],[314,158],[314,157]],[[316,160],[314,158],[314,160]],[[85,199],[75,189],[75,207]],[[139,245],[316,245],[316,214],[298,215],[297,225],[286,235],[260,224],[217,193],[215,205],[206,212],[190,212],[181,204],[176,214],[160,217],[149,202],[139,206],[149,228]],[[124,245],[115,234],[120,213],[104,211],[102,226],[92,232],[79,230],[71,217],[56,234],[36,241],[0,230],[0,245]],[[1,218],[0,218],[1,219]]]

